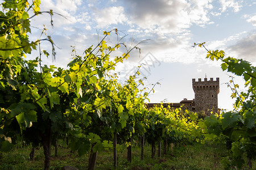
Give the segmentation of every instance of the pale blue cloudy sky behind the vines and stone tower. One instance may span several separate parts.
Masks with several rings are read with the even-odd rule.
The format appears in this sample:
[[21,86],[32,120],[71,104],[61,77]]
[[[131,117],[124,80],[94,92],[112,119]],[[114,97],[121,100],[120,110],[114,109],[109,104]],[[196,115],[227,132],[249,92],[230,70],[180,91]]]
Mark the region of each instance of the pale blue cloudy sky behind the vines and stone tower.
[[[194,42],[206,42],[210,50],[224,50],[227,56],[243,58],[256,63],[256,1],[255,0],[43,0],[41,11],[53,10],[53,27],[47,14],[31,20],[30,40],[38,39],[42,28],[52,37],[56,46],[56,59],[44,58],[47,65],[66,67],[71,61],[71,46],[77,54],[96,45],[103,31],[117,28],[106,41],[115,44],[122,39],[127,46],[138,44],[141,53],[133,50],[130,58],[116,68],[119,82],[141,67],[141,78],[148,91],[156,85],[150,103],[167,101],[178,103],[192,100],[192,78],[220,78],[218,107],[233,109],[232,91],[227,87],[231,73],[222,71],[221,62],[205,58],[207,51],[193,48]],[[60,14],[60,15],[58,15]],[[62,15],[62,16],[61,16]],[[144,41],[146,40],[146,41]],[[50,44],[42,48],[51,51]],[[124,49],[121,49],[124,50]],[[39,52],[32,52],[28,58]],[[234,82],[243,80],[234,76]]]

